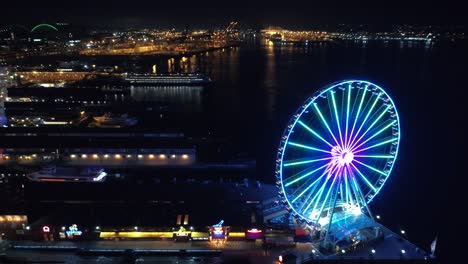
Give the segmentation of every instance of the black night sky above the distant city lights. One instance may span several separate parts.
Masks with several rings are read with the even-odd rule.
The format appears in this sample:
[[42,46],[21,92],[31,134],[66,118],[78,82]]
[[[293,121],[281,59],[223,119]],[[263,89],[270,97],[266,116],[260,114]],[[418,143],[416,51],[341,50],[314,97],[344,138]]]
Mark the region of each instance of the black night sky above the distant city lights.
[[[351,4],[352,2],[352,4]],[[196,1],[100,1],[68,6],[63,2],[44,1],[24,7],[3,7],[1,24],[35,24],[65,21],[81,25],[109,27],[210,27],[238,20],[244,25],[279,25],[288,28],[313,28],[326,24],[466,24],[462,4],[450,1],[317,1],[284,2],[284,6],[258,2],[242,5],[238,1],[222,1],[208,5]],[[222,3],[222,5],[220,5]],[[8,3],[11,4],[11,3]],[[243,7],[248,6],[248,7]]]

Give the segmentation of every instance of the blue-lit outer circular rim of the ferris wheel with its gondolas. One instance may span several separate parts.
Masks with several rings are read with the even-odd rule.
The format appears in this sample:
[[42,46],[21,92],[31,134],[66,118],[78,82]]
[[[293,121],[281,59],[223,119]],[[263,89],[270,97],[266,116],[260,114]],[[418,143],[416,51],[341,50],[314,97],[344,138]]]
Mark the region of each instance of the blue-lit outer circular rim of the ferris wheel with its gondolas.
[[[372,195],[372,197],[369,200],[364,200],[365,206],[370,204],[374,200],[374,198],[379,194],[379,192],[383,189],[383,186],[386,184],[386,182],[387,182],[387,180],[388,180],[388,178],[389,178],[389,176],[390,176],[390,174],[391,174],[391,172],[392,172],[392,170],[394,168],[395,161],[397,159],[398,152],[399,152],[399,145],[400,145],[399,143],[400,143],[400,140],[401,140],[401,134],[400,134],[401,124],[400,124],[400,118],[399,118],[398,110],[396,109],[395,103],[394,103],[393,99],[389,96],[389,94],[381,86],[379,86],[379,85],[377,85],[377,84],[375,84],[375,83],[373,83],[371,81],[361,80],[361,79],[345,79],[345,80],[337,81],[337,82],[328,84],[326,86],[323,86],[317,92],[313,93],[312,96],[308,97],[304,101],[304,103],[300,105],[298,110],[293,114],[291,119],[288,121],[286,129],[284,130],[284,132],[282,134],[282,137],[281,137],[281,140],[280,140],[278,153],[277,153],[277,159],[276,159],[275,174],[276,174],[276,178],[277,178],[277,185],[278,185],[278,187],[280,187],[280,191],[279,191],[280,197],[284,198],[284,200],[286,200],[288,210],[292,211],[295,216],[300,216],[300,218],[302,220],[311,221],[311,219],[308,219],[307,217],[305,217],[303,215],[303,213],[299,213],[299,212],[296,211],[295,206],[292,204],[290,199],[287,197],[287,193],[286,193],[286,190],[285,190],[285,184],[283,182],[284,154],[286,152],[287,145],[288,145],[291,133],[293,132],[294,128],[296,127],[298,121],[301,119],[304,112],[306,112],[307,109],[309,109],[309,107],[318,98],[320,98],[323,94],[327,93],[328,91],[333,90],[333,89],[335,89],[335,88],[337,88],[337,87],[339,87],[341,85],[353,84],[353,83],[365,84],[365,85],[368,85],[368,87],[371,86],[371,85],[373,87],[376,87],[379,90],[379,93],[381,93],[385,97],[385,99],[388,99],[389,104],[391,106],[393,106],[393,110],[394,110],[394,113],[395,113],[394,119],[396,120],[396,126],[397,126],[397,136],[396,136],[397,144],[396,144],[395,154],[392,157],[392,163],[390,165],[390,168],[388,169],[388,173],[387,173],[386,177],[384,178],[383,182],[378,187],[377,191],[375,191],[375,193]],[[379,97],[378,97],[378,99],[380,99]],[[319,216],[319,218],[320,218],[320,216]]]

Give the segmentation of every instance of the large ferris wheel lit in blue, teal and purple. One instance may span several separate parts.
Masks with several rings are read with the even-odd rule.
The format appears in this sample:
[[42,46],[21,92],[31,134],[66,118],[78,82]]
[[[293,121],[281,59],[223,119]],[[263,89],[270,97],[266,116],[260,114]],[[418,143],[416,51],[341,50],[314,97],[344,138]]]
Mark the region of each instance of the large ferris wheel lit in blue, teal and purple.
[[367,205],[390,176],[399,141],[398,113],[381,87],[362,80],[325,87],[298,109],[281,138],[282,202],[314,226],[331,223],[337,211],[372,216]]

